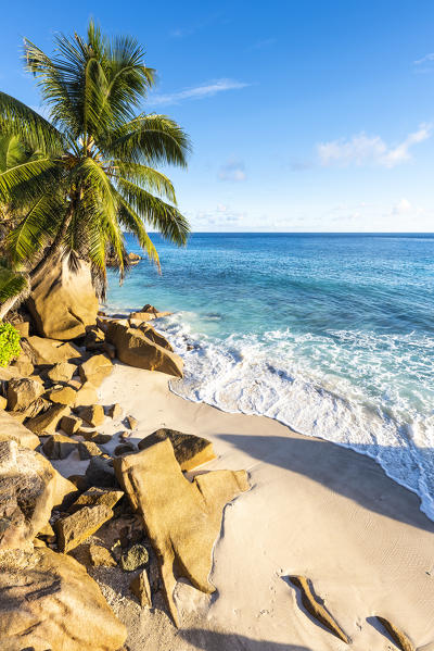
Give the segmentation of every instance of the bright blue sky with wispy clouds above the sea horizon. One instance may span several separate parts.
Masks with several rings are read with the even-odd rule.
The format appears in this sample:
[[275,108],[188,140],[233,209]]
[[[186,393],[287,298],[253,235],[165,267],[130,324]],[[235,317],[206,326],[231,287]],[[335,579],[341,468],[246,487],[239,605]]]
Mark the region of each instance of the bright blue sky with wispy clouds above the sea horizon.
[[170,170],[194,230],[434,230],[434,2],[27,0],[3,10],[0,88],[39,105],[26,36],[135,35],[146,110],[189,132]]

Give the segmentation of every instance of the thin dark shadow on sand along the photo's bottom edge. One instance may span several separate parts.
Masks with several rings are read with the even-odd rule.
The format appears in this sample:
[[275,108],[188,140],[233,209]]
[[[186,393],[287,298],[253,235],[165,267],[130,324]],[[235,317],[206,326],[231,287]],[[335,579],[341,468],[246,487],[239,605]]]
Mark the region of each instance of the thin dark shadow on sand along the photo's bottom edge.
[[178,635],[203,651],[309,651],[307,647],[301,647],[299,644],[254,640],[243,635],[201,628],[181,629]]

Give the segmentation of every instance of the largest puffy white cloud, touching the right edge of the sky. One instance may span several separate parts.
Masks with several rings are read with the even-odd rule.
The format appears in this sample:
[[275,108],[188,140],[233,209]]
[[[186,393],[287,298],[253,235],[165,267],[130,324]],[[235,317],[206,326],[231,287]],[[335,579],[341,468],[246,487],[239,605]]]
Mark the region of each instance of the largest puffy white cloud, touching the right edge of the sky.
[[380,165],[395,167],[411,159],[410,149],[418,142],[430,138],[432,126],[421,124],[419,129],[409,134],[396,146],[388,146],[380,136],[359,134],[349,140],[331,140],[317,146],[321,165],[329,167],[340,165]]

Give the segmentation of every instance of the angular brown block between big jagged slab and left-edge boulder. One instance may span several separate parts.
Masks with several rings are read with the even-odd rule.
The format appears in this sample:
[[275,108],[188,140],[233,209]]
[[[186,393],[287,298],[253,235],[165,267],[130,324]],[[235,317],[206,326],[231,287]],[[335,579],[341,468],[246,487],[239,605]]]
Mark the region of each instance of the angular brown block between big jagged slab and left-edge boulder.
[[54,527],[58,534],[59,551],[67,553],[92,536],[113,517],[113,511],[105,504],[82,506],[75,513],[58,519]]

